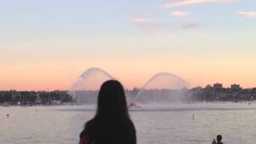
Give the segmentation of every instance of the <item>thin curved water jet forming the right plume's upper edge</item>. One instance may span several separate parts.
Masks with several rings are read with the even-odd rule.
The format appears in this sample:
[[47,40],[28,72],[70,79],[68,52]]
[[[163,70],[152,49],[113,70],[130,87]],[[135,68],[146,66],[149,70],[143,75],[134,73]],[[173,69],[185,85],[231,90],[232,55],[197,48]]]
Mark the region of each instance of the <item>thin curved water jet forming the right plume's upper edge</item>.
[[178,76],[175,75],[175,74],[170,74],[170,73],[168,73],[168,72],[158,73],[158,74],[155,74],[152,78],[150,78],[150,79],[142,86],[141,90],[139,90],[139,91],[138,91],[138,94],[136,94],[136,96],[135,96],[135,98],[134,98],[134,102],[138,99],[139,94],[142,93],[142,91],[145,89],[145,87],[146,87],[151,81],[153,81],[154,78],[157,78],[159,75],[163,75],[163,74],[172,76],[172,77],[174,77],[174,78],[177,78],[177,79],[180,80],[181,82],[184,82],[184,83],[186,84],[186,86],[189,86],[189,85],[190,85],[190,84],[189,84],[188,82],[186,82],[184,79],[178,77]]

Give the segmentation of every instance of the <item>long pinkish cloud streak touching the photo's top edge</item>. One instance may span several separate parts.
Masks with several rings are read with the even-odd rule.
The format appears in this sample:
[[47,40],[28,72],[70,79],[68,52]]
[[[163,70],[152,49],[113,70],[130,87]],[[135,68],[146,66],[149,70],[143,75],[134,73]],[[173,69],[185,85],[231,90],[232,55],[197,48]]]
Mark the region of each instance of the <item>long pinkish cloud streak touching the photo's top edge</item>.
[[233,2],[234,0],[176,0],[174,2],[168,2],[163,4],[162,8],[169,8],[175,6],[186,6],[186,5],[194,5],[194,4],[204,4],[204,3],[212,3],[212,2]]

